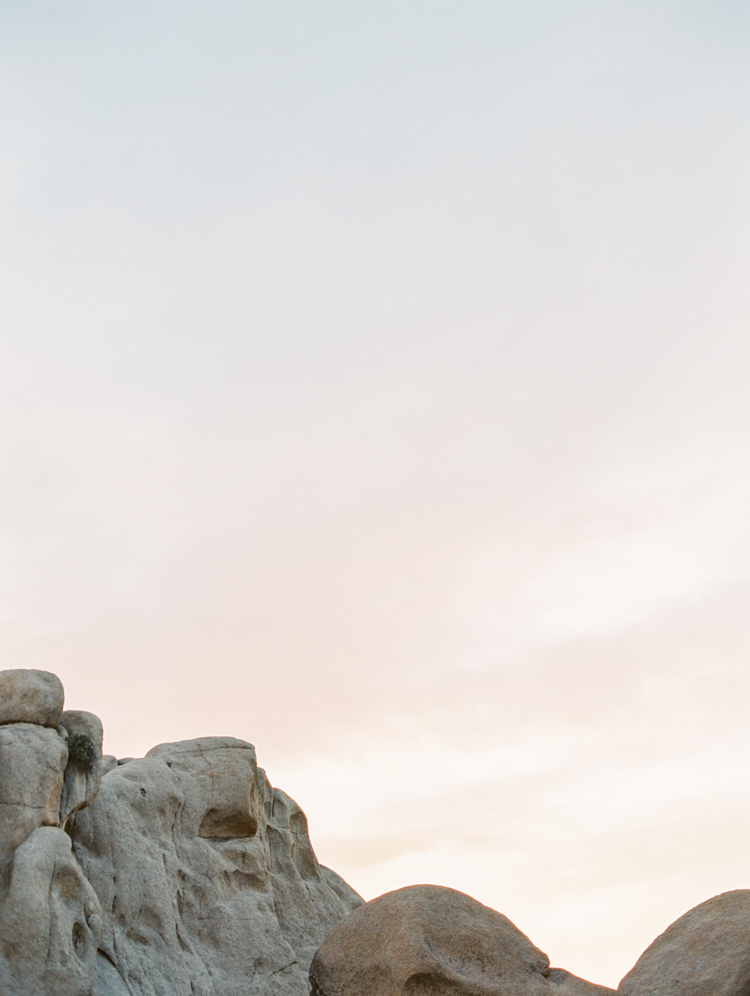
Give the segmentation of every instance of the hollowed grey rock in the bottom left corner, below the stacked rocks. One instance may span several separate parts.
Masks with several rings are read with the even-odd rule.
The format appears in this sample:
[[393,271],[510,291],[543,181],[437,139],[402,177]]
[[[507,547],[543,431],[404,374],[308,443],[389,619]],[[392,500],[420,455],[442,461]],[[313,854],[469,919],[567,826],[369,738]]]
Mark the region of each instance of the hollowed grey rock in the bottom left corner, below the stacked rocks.
[[0,902],[3,996],[91,996],[101,907],[62,830],[18,847]]

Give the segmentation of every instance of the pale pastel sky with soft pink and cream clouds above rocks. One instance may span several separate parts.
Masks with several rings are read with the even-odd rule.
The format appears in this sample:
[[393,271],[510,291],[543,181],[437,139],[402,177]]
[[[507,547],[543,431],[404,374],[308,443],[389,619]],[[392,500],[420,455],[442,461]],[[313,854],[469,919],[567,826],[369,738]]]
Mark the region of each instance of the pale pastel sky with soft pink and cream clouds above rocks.
[[595,982],[750,887],[749,43],[7,0],[0,666]]

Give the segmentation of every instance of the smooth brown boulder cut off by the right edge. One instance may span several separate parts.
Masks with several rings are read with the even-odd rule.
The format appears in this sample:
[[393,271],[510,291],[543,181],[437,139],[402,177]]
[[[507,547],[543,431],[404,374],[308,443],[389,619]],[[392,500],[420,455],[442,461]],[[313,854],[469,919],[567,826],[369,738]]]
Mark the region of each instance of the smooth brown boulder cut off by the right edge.
[[622,996],[748,996],[750,890],[723,892],[660,934],[620,983]]

